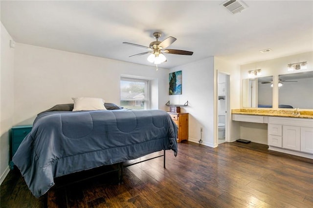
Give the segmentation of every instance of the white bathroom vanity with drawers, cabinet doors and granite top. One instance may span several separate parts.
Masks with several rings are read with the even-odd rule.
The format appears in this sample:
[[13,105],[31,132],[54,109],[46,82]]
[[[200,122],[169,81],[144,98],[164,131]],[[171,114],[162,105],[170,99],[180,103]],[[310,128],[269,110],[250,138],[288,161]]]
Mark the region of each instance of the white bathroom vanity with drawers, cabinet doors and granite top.
[[268,149],[313,159],[313,111],[234,109],[232,120],[268,124]]

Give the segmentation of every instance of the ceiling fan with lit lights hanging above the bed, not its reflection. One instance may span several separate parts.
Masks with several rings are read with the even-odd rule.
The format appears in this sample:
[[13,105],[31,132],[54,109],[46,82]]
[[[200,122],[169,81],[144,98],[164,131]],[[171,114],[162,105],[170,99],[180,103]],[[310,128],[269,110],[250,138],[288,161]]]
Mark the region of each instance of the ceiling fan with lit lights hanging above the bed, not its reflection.
[[149,62],[151,62],[151,63],[159,64],[159,63],[167,61],[166,57],[164,56],[164,53],[179,54],[179,55],[189,55],[189,56],[194,53],[192,51],[184,51],[184,50],[177,50],[177,49],[167,49],[168,46],[170,46],[173,42],[175,42],[177,40],[176,38],[174,38],[172,36],[166,38],[162,42],[158,41],[158,39],[161,37],[161,33],[160,32],[153,33],[153,36],[156,38],[156,41],[151,42],[149,47],[144,46],[144,45],[138,45],[138,44],[130,43],[130,42],[123,42],[125,44],[146,48],[146,49],[149,50],[147,52],[135,54],[135,55],[132,55],[130,57],[150,54],[148,56],[147,60]]

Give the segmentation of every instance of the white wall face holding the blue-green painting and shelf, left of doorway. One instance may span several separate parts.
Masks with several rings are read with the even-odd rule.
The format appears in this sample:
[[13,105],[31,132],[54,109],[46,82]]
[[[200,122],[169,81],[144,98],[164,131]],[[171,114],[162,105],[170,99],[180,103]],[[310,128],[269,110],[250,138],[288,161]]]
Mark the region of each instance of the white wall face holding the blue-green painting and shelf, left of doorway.
[[[184,104],[181,112],[189,113],[189,140],[198,143],[203,127],[203,145],[214,146],[214,58],[188,63],[172,68],[170,72],[180,71],[182,76],[181,95],[170,95],[171,104]],[[168,77],[168,75],[167,75]]]

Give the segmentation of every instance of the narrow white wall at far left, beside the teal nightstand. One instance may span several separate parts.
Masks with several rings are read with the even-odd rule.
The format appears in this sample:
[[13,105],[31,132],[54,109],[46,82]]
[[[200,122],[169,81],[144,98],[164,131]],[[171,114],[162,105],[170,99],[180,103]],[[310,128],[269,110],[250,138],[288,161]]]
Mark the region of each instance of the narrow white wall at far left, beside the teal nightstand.
[[13,125],[13,71],[14,48],[10,48],[12,37],[1,23],[0,54],[0,184],[9,172],[9,134]]

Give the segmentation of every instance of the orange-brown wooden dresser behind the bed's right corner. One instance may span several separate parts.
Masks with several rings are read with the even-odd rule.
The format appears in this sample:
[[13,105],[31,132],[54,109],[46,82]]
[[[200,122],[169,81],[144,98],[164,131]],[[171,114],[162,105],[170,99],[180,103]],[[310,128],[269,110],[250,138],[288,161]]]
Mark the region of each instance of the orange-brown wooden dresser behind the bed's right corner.
[[175,124],[178,126],[178,139],[180,143],[182,140],[188,141],[188,113],[172,113],[168,112]]

